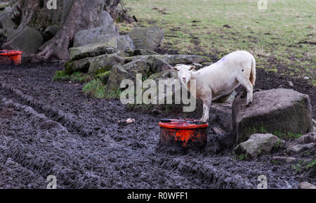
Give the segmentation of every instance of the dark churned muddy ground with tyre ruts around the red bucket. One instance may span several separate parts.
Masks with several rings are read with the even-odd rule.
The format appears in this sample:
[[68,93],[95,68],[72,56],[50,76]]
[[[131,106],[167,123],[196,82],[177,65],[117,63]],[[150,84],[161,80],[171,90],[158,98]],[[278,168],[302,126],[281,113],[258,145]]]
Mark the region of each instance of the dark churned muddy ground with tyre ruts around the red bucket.
[[[53,82],[57,70],[62,65],[0,67],[0,188],[46,188],[48,175],[57,176],[58,188],[257,188],[261,175],[268,176],[268,188],[298,188],[300,174],[272,164],[272,155],[235,159],[230,133],[209,128],[199,151],[165,149],[157,144],[162,114],[89,98],[81,84]],[[257,81],[259,89],[288,87],[286,78],[263,70]],[[315,88],[292,82],[310,94],[315,117]],[[127,118],[136,123],[117,124]]]

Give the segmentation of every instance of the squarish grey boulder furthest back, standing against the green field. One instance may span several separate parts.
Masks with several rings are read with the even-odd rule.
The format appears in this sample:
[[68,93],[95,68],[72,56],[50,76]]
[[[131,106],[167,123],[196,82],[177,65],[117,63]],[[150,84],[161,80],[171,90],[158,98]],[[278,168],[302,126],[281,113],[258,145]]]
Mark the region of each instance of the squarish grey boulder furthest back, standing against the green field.
[[164,30],[159,27],[133,27],[133,30],[129,33],[129,37],[133,39],[136,48],[144,48],[154,50],[158,46],[162,45],[164,39]]

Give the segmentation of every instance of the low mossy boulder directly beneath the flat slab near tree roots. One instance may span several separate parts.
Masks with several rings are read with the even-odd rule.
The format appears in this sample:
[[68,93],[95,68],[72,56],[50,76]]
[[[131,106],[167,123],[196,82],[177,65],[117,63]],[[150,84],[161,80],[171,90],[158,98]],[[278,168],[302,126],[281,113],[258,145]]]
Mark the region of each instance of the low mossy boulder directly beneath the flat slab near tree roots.
[[112,69],[113,65],[123,64],[124,60],[114,54],[98,55],[91,58],[82,58],[66,63],[65,70],[67,72],[82,71],[88,74],[106,72]]

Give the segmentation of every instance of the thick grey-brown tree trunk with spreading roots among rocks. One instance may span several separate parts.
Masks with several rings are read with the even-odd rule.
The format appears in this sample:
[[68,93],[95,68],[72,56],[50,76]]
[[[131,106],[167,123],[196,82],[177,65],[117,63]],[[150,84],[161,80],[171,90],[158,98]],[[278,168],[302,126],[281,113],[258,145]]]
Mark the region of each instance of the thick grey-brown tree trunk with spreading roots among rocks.
[[[16,0],[11,0],[14,3]],[[18,0],[22,17],[18,31],[26,26],[34,27],[43,32],[48,25],[58,25],[58,32],[46,41],[37,54],[47,60],[56,58],[68,60],[68,48],[79,30],[91,29],[101,24],[103,10],[114,11],[120,0],[57,0],[58,8],[48,10],[48,0]]]

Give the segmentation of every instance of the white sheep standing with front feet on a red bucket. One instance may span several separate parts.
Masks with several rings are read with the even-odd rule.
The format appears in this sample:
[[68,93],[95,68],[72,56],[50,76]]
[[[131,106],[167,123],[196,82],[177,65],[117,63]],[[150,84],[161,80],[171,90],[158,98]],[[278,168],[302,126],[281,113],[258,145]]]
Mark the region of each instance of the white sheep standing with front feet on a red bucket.
[[179,65],[173,69],[178,71],[178,78],[182,84],[187,84],[187,89],[190,89],[190,80],[195,79],[196,97],[203,101],[202,122],[209,120],[211,101],[228,95],[239,84],[242,84],[247,92],[246,106],[252,103],[256,60],[247,51],[234,51],[197,71],[192,65]]

